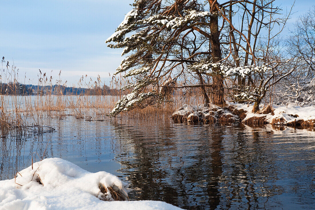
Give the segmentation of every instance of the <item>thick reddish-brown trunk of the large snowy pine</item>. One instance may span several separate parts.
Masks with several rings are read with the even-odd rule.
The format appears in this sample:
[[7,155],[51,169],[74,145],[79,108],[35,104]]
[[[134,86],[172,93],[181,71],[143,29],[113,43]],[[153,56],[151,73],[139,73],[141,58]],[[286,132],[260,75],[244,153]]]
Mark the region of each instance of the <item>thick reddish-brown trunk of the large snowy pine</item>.
[[[218,4],[216,0],[208,0],[210,5],[210,12],[215,13],[217,9],[214,4]],[[218,26],[218,16],[212,15],[210,16],[210,44],[211,44],[211,56],[212,62],[216,63],[222,59],[221,49],[220,49],[220,41],[219,41],[219,26]],[[212,101],[216,105],[224,105],[224,78],[220,73],[220,68],[213,69],[214,72],[217,72],[215,76],[213,76],[213,88],[212,88]]]

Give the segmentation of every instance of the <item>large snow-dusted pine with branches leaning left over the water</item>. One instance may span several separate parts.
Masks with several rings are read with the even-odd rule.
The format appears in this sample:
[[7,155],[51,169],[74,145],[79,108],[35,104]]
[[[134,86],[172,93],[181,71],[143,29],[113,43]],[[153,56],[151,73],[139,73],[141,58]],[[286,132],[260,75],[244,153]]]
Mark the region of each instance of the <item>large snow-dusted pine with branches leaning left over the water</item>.
[[[199,88],[205,105],[224,105],[225,89],[254,87],[252,75],[273,68],[255,54],[261,29],[285,24],[272,18],[280,11],[273,1],[136,0],[106,40],[126,55],[115,74],[135,78],[111,114],[160,102],[167,88]],[[238,84],[227,87],[226,77]]]

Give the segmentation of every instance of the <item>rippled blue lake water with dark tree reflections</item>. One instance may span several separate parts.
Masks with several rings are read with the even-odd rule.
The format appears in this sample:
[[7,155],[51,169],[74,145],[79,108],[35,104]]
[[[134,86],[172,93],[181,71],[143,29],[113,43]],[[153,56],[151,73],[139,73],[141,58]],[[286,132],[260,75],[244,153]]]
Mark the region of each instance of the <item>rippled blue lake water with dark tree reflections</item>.
[[[43,119],[43,136],[0,139],[0,179],[60,157],[129,182],[131,200],[185,209],[314,209],[315,132],[270,125],[185,125],[164,121]],[[37,157],[38,160],[38,157]]]

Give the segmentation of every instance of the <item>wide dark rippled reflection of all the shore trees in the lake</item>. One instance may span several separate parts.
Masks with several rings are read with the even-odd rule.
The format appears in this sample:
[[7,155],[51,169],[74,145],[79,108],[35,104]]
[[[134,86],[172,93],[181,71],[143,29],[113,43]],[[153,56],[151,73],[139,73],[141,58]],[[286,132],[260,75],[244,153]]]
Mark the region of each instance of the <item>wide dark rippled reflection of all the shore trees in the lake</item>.
[[[240,126],[113,124],[120,142],[119,172],[135,200],[161,200],[183,208],[264,208],[273,195],[279,164],[273,131]],[[121,140],[119,140],[121,139]],[[269,204],[268,204],[269,203]]]

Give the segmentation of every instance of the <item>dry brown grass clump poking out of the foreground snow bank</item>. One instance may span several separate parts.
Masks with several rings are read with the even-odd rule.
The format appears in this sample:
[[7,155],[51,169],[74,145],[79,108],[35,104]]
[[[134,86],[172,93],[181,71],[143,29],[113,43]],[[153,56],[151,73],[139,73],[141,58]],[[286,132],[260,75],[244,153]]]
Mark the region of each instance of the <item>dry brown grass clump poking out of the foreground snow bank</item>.
[[117,186],[106,187],[99,183],[100,195],[97,197],[103,201],[129,201],[128,194]]

